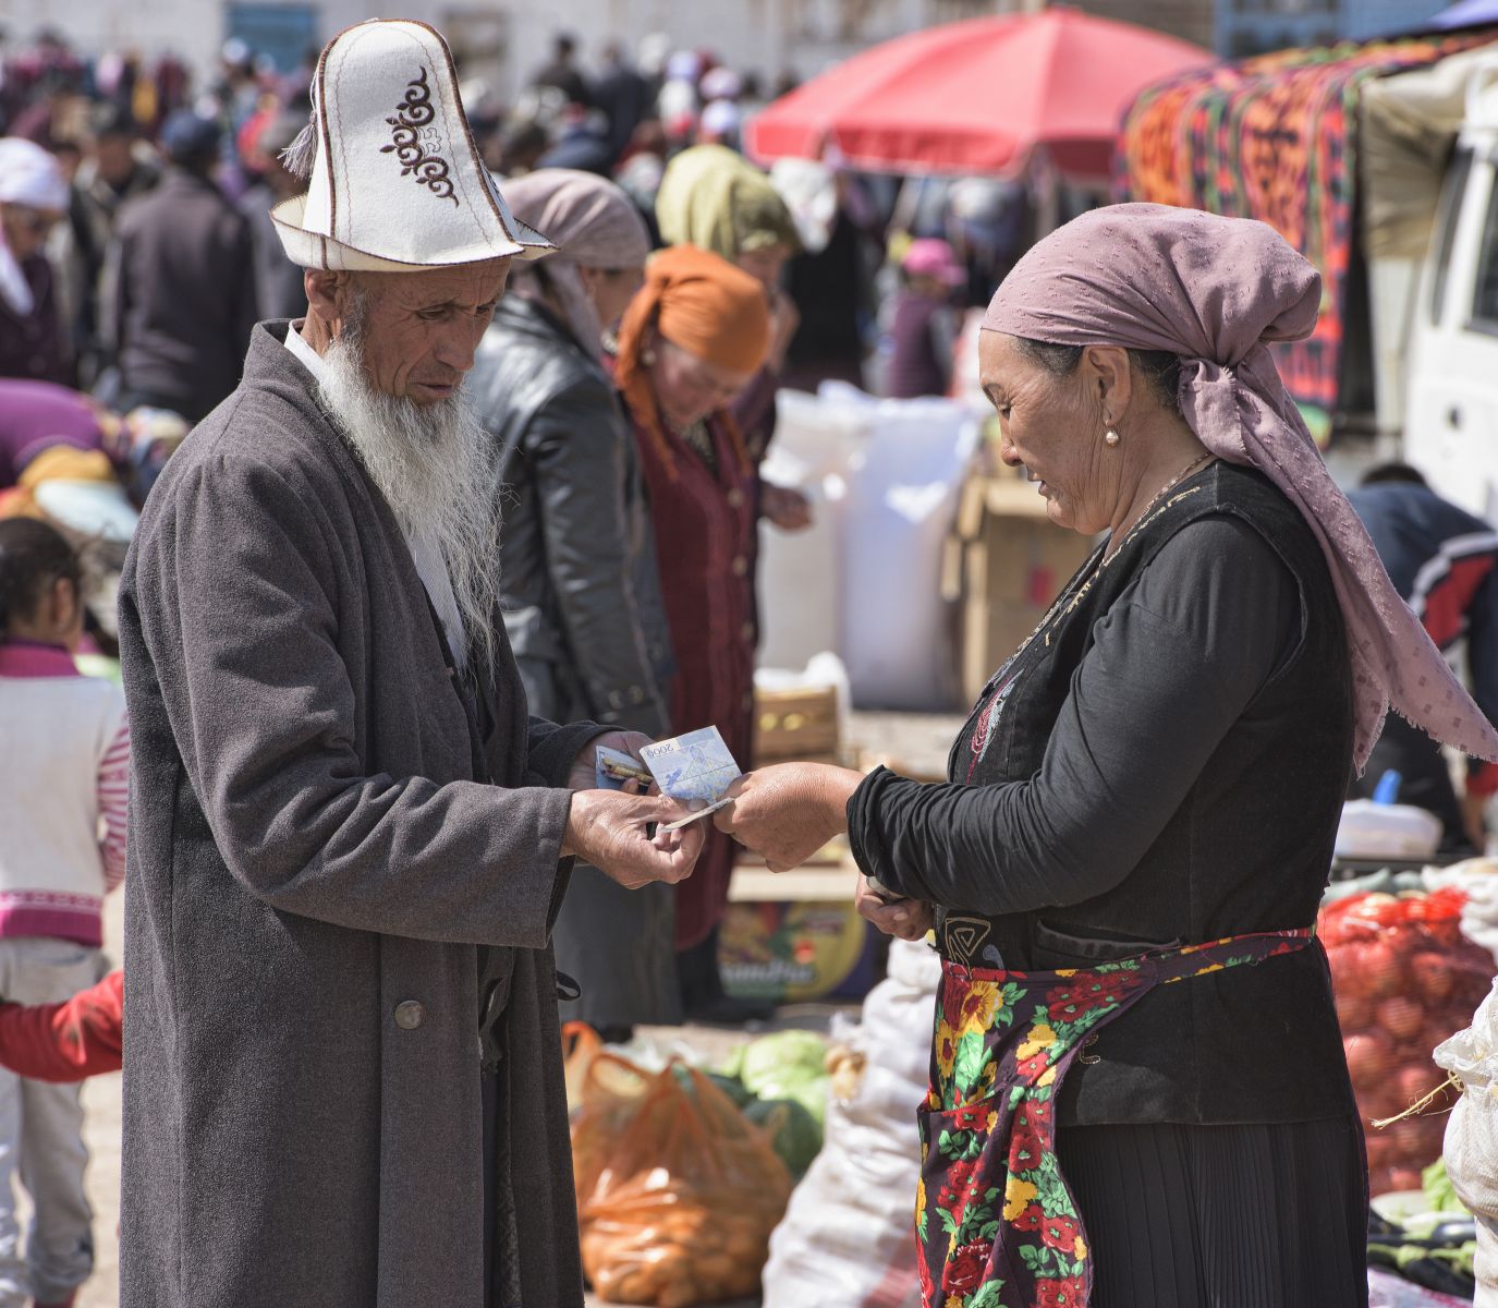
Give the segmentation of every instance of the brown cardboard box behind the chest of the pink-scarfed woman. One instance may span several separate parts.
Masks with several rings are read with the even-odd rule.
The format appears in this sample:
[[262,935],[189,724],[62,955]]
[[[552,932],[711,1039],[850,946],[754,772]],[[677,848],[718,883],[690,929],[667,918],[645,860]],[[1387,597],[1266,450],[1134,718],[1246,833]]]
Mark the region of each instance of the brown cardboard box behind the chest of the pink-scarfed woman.
[[1022,478],[968,479],[942,586],[960,604],[959,671],[969,704],[1040,625],[1092,548],[1092,536],[1052,523],[1046,500]]

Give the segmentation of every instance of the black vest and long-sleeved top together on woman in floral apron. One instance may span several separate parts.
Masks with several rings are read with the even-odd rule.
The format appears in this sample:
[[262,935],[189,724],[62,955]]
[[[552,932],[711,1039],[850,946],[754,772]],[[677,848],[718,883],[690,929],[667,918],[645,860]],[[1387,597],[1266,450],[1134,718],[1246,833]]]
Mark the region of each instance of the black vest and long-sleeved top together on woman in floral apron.
[[[860,866],[974,966],[1086,966],[1309,926],[1351,761],[1341,610],[1258,473],[1171,491],[990,682],[950,781],[873,773]],[[957,926],[960,930],[951,932]],[[1351,1106],[1320,948],[1147,995],[1068,1076],[1064,1122],[1264,1122]]]

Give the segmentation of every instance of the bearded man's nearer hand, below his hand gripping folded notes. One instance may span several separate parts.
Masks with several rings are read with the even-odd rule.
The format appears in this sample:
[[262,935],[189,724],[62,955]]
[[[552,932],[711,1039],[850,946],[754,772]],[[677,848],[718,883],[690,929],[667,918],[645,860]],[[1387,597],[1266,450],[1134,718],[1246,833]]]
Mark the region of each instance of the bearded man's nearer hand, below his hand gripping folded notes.
[[679,821],[689,812],[676,800],[659,796],[574,791],[562,854],[592,863],[626,890],[638,890],[653,881],[674,885],[692,875],[707,835],[701,823],[680,832],[659,832],[656,827]]

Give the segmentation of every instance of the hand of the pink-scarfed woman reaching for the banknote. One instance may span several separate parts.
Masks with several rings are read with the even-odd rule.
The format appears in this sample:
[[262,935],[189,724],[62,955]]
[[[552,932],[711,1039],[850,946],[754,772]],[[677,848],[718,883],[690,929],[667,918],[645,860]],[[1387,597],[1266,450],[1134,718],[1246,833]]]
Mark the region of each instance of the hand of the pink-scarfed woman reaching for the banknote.
[[761,767],[728,788],[733,803],[713,824],[764,856],[771,872],[789,872],[848,830],[848,799],[861,781],[863,773],[824,763]]

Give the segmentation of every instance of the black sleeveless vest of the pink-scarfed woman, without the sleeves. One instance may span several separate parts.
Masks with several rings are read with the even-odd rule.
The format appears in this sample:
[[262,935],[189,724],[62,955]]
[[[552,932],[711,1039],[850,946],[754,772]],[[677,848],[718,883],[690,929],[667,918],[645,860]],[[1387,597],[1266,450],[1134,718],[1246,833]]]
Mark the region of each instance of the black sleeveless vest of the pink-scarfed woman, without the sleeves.
[[[1083,565],[1037,637],[990,680],[948,776],[972,785],[1035,776],[1095,625],[1171,536],[1210,514],[1249,523],[1296,578],[1294,649],[1119,885],[1085,903],[996,918],[947,909],[944,953],[978,944],[974,966],[998,957],[1008,968],[1055,969],[1315,920],[1351,760],[1347,635],[1314,535],[1251,469],[1212,464],[1146,514],[1107,565],[1101,550]],[[1149,751],[1144,737],[1140,767],[1150,766]],[[1287,1122],[1351,1106],[1326,959],[1312,947],[1147,995],[1085,1050],[1061,1121]]]

